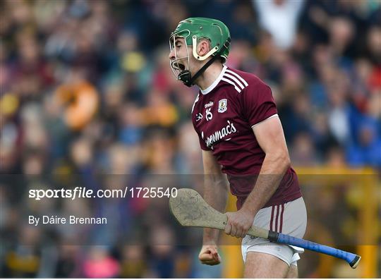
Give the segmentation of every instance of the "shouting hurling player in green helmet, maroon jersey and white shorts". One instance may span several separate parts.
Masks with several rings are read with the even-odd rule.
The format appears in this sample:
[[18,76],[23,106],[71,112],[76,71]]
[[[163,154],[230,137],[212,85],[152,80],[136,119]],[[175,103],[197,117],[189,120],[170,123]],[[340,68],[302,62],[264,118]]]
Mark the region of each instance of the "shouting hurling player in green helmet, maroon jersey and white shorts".
[[[225,65],[230,32],[219,20],[182,20],[169,39],[171,69],[178,80],[200,88],[192,121],[207,175],[204,198],[224,212],[229,188],[237,212],[226,213],[225,232],[242,240],[248,278],[297,277],[303,249],[250,238],[253,224],[303,238],[306,206],[291,168],[281,121],[271,89],[253,74]],[[219,264],[218,230],[205,229],[199,259]]]

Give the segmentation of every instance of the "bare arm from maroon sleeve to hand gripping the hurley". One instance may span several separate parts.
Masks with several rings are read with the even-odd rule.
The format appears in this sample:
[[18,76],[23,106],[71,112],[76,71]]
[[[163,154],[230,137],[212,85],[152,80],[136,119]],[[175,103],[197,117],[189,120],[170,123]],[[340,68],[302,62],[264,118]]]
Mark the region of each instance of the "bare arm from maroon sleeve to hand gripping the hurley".
[[238,212],[227,213],[229,220],[225,232],[244,237],[253,224],[255,214],[277,190],[284,173],[290,166],[289,152],[284,139],[282,123],[278,117],[268,118],[253,126],[258,144],[265,152],[258,180]]

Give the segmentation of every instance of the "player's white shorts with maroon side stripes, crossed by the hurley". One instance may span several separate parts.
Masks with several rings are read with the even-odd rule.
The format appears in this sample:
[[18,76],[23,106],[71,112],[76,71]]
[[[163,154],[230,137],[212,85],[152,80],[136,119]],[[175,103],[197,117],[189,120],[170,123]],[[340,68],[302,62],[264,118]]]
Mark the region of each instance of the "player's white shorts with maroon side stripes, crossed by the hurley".
[[[260,209],[255,215],[253,225],[303,238],[307,226],[307,211],[303,197],[282,205]],[[248,252],[265,252],[279,257],[288,265],[296,265],[300,259],[299,254],[304,252],[303,248],[273,243],[264,238],[252,238],[251,236],[245,236],[242,239],[241,250],[244,262],[246,262]]]

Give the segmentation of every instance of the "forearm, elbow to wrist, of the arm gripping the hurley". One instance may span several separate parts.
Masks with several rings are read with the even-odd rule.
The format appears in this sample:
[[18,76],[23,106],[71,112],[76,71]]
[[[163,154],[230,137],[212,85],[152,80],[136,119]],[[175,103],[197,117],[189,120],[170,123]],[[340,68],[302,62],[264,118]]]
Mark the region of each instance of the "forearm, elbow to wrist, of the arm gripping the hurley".
[[242,206],[243,211],[255,215],[262,209],[277,190],[289,166],[290,159],[287,152],[266,154],[255,186]]

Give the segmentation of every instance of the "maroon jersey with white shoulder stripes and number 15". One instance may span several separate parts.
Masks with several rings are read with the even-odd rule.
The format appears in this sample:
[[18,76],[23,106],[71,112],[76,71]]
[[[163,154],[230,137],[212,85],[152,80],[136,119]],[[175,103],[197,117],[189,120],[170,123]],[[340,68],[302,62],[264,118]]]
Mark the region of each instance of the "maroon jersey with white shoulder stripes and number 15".
[[[255,185],[265,159],[253,126],[277,116],[270,87],[253,74],[224,66],[217,80],[200,90],[192,108],[193,126],[202,150],[222,165],[240,209]],[[289,168],[265,207],[301,197],[298,177]]]

